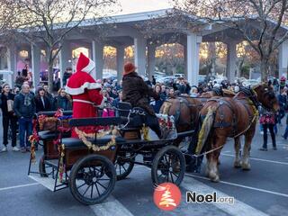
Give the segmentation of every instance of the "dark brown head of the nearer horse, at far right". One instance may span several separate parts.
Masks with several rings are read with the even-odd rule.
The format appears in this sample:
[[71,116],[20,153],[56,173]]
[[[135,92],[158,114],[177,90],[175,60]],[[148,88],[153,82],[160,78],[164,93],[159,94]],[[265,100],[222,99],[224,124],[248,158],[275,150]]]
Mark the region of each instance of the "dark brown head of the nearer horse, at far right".
[[252,91],[256,93],[256,98],[267,110],[279,110],[279,104],[275,95],[273,87],[265,83],[251,87]]

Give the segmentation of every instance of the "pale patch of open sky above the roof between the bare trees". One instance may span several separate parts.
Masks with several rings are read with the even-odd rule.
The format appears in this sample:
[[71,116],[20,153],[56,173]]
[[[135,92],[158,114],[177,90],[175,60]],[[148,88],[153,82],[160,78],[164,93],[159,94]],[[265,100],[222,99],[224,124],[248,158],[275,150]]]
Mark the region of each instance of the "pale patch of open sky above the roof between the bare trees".
[[172,7],[170,0],[119,0],[119,3],[121,4],[119,14],[134,14]]

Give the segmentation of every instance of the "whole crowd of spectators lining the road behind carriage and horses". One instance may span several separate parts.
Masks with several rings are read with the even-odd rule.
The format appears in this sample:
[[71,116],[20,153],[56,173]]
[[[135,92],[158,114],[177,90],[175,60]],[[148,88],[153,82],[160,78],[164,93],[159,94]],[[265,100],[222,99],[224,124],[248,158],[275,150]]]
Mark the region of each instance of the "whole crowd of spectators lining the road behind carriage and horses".
[[[67,68],[67,72],[63,77],[63,84],[67,84],[68,78],[72,75],[72,70]],[[161,105],[169,97],[185,94],[192,97],[197,97],[203,92],[211,91],[213,88],[226,88],[237,93],[241,87],[241,83],[229,83],[224,81],[221,84],[208,82],[207,84],[199,84],[191,86],[186,79],[180,77],[171,83],[158,83],[154,76],[151,80],[143,77],[145,83],[155,90],[159,95],[157,100],[150,99],[150,106],[154,112],[159,112]],[[285,81],[281,79],[281,82]],[[106,107],[117,107],[122,101],[122,80],[118,82],[112,79],[96,80],[96,83],[102,85],[102,94]],[[283,83],[282,83],[283,84]],[[275,133],[277,126],[282,126],[285,118],[286,128],[283,138],[288,138],[288,86],[277,85],[275,82],[269,82],[271,87],[275,88],[275,93],[278,94],[278,102],[280,111],[278,113],[260,109],[260,130],[264,135],[264,143],[261,150],[267,150],[267,130],[273,140],[273,147],[276,149]],[[11,139],[11,144],[14,151],[21,150],[22,152],[30,151],[30,143],[28,137],[32,133],[32,118],[37,112],[55,111],[62,109],[64,111],[71,110],[73,103],[71,96],[66,93],[65,88],[59,88],[58,92],[50,93],[48,85],[43,84],[37,86],[36,90],[31,90],[31,84],[28,81],[23,81],[21,89],[4,84],[2,93],[0,94],[0,106],[3,115],[3,145],[1,152],[7,151],[8,139]],[[114,113],[113,113],[114,114]],[[108,113],[109,115],[109,113]],[[9,130],[10,128],[10,130]],[[20,148],[17,148],[17,132],[19,133]]]

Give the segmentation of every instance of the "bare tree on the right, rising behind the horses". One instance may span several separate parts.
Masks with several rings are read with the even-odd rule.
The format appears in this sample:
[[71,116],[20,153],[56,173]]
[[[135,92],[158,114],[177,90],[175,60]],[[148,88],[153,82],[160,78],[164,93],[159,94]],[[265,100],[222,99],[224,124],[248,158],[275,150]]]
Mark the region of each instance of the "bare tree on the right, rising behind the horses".
[[288,39],[283,24],[287,0],[174,0],[177,9],[197,19],[235,29],[257,51],[262,80],[269,74],[269,59]]

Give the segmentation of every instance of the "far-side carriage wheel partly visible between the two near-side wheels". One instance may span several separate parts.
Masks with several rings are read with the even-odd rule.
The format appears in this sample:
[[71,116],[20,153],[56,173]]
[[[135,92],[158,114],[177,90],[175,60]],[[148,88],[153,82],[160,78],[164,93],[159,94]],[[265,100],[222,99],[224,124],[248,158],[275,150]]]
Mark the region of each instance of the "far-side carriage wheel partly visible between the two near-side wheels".
[[117,174],[117,181],[125,179],[134,167],[135,157],[133,157],[130,153],[120,152],[117,154],[115,160],[115,169]]

